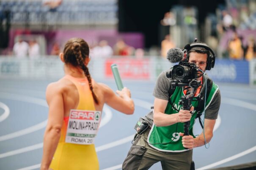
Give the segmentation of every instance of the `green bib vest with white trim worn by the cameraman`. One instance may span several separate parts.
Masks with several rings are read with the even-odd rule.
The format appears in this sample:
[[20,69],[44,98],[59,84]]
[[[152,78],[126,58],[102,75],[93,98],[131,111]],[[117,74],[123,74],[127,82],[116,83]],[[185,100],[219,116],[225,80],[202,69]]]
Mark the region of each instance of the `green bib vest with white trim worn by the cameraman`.
[[[212,82],[211,91],[209,93],[208,98],[206,99],[206,105],[205,105],[206,108],[211,103],[212,98],[215,96],[217,90],[218,90],[218,86],[214,82]],[[169,98],[169,102],[165,109],[165,114],[178,113],[175,109],[177,110],[182,109],[182,105],[179,104],[179,101],[180,101],[180,97],[184,95],[185,94],[182,90],[182,87],[176,87],[176,89],[173,92],[173,95]],[[198,101],[192,101],[191,104],[196,108],[196,106],[198,105]],[[203,110],[204,108],[201,110],[201,112],[203,112]],[[190,119],[190,128],[189,128],[190,135],[193,135],[193,125],[195,123],[195,117],[197,115],[197,112],[193,112],[192,117]],[[169,126],[162,126],[162,127],[157,127],[153,124],[149,132],[147,142],[151,147],[159,151],[168,151],[168,152],[187,151],[188,149],[184,149],[182,145],[182,136],[179,135],[180,132],[184,133],[184,123],[181,123],[181,122],[175,123]]]

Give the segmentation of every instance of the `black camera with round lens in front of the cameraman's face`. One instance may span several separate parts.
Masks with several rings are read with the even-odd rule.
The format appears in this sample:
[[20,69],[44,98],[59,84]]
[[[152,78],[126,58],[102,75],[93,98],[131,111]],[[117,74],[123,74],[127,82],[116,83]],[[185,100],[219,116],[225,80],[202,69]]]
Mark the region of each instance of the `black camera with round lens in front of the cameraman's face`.
[[167,70],[166,77],[169,78],[173,86],[190,86],[197,88],[199,83],[198,66],[195,63],[180,61],[179,64]]

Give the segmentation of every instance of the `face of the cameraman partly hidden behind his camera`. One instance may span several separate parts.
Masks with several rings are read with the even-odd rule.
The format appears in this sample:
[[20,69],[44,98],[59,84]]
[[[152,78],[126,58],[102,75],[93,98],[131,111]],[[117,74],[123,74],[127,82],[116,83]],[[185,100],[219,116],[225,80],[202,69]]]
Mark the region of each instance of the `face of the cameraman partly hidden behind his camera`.
[[195,63],[199,66],[199,69],[205,72],[206,70],[206,61],[207,61],[207,54],[191,52],[189,53],[189,61],[190,63]]

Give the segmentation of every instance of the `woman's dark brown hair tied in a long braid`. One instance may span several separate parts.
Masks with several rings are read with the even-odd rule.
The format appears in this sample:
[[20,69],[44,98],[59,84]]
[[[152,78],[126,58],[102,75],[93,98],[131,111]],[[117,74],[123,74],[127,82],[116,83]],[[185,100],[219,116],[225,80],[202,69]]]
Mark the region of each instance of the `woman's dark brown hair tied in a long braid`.
[[85,76],[88,79],[89,87],[94,98],[94,102],[99,104],[99,100],[94,93],[92,84],[91,84],[91,75],[89,73],[88,67],[84,64],[85,58],[89,57],[89,46],[82,38],[71,38],[65,44],[64,47],[64,61],[65,64],[72,64],[72,66],[79,66]]

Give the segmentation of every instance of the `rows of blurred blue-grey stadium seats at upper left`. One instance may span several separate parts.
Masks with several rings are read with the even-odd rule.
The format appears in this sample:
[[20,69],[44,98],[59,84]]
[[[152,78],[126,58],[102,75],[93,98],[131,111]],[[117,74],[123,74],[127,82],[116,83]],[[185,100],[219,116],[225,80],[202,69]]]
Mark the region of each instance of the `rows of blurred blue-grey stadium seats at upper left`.
[[11,24],[115,25],[118,22],[117,0],[63,0],[54,10],[41,0],[2,0],[0,8],[11,11]]

